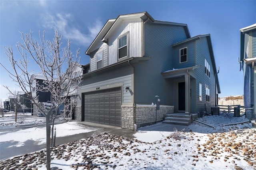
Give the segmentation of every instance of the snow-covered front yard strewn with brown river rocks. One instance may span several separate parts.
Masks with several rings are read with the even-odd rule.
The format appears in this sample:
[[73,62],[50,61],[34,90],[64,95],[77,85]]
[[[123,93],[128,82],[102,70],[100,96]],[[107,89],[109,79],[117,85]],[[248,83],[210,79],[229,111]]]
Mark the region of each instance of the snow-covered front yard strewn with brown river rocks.
[[[157,123],[138,128],[134,138],[105,133],[63,144],[52,150],[51,167],[63,170],[72,168],[253,170],[256,168],[256,131],[250,123],[245,123],[248,119],[220,113],[220,116],[205,116],[198,121],[210,124],[214,128],[194,121],[183,132],[173,132],[173,128],[170,129],[173,126]],[[227,125],[241,122],[244,123]],[[62,125],[65,125],[67,130],[73,128],[74,130],[70,130],[73,133],[81,130],[79,127],[82,128],[76,122],[68,124],[70,127],[66,124]],[[30,128],[26,133],[34,131],[37,130]],[[24,131],[20,131],[13,136],[18,136],[19,133],[25,134]],[[180,137],[173,138],[172,136],[177,133]],[[4,140],[14,140],[10,136],[12,135],[4,136]],[[2,135],[0,138],[2,141]],[[41,138],[36,135],[31,137],[32,140]],[[45,160],[45,150],[41,150],[0,161],[0,169],[32,167],[44,170]]]

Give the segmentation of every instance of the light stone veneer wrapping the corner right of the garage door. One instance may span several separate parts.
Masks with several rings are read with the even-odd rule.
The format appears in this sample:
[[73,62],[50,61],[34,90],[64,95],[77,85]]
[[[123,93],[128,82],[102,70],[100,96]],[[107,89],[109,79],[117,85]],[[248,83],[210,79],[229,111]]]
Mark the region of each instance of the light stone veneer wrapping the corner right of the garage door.
[[[156,122],[164,120],[164,115],[174,113],[174,106],[160,105],[160,109],[156,112],[155,106],[141,105],[136,106],[136,125],[137,128],[153,125]],[[134,130],[134,107],[122,106],[122,128]]]

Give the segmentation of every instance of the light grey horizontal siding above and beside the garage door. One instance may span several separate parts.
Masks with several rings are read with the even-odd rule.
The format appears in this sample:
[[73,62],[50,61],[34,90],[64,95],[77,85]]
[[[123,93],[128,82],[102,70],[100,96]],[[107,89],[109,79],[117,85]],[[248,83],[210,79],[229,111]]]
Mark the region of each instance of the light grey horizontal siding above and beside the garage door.
[[[131,103],[132,95],[130,91],[125,90],[126,86],[132,86],[132,67],[126,66],[120,69],[108,71],[100,74],[91,74],[90,77],[82,81],[82,86],[78,94],[90,91],[97,91],[96,87],[112,88],[111,85],[122,84],[122,103]],[[121,85],[120,85],[121,86]],[[101,90],[102,88],[100,88]],[[78,106],[81,106],[81,100],[78,99]]]

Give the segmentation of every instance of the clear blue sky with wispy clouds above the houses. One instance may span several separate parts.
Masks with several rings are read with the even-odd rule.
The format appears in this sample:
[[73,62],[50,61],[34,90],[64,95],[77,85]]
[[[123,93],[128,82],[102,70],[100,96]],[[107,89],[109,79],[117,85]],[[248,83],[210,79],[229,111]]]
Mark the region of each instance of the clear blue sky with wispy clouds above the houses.
[[[147,11],[155,20],[188,25],[191,37],[210,34],[216,61],[220,67],[220,97],[242,95],[244,76],[238,64],[240,29],[256,23],[256,0],[164,0],[164,1],[89,1],[89,0],[0,0],[0,62],[11,70],[3,46],[21,42],[20,32],[46,30],[52,40],[54,30],[70,38],[75,53],[81,48],[81,64],[89,63],[85,55],[108,19],[121,14]],[[65,42],[64,42],[65,44]],[[15,56],[20,57],[17,51]],[[0,99],[8,99],[3,85],[19,91],[0,66]]]

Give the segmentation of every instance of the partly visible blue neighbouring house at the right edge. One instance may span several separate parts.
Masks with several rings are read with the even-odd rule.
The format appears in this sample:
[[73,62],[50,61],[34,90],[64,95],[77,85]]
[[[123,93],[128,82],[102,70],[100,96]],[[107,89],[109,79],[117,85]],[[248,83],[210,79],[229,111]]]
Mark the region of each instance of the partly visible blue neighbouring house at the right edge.
[[240,69],[244,71],[244,108],[249,119],[256,119],[256,24],[240,29]]

